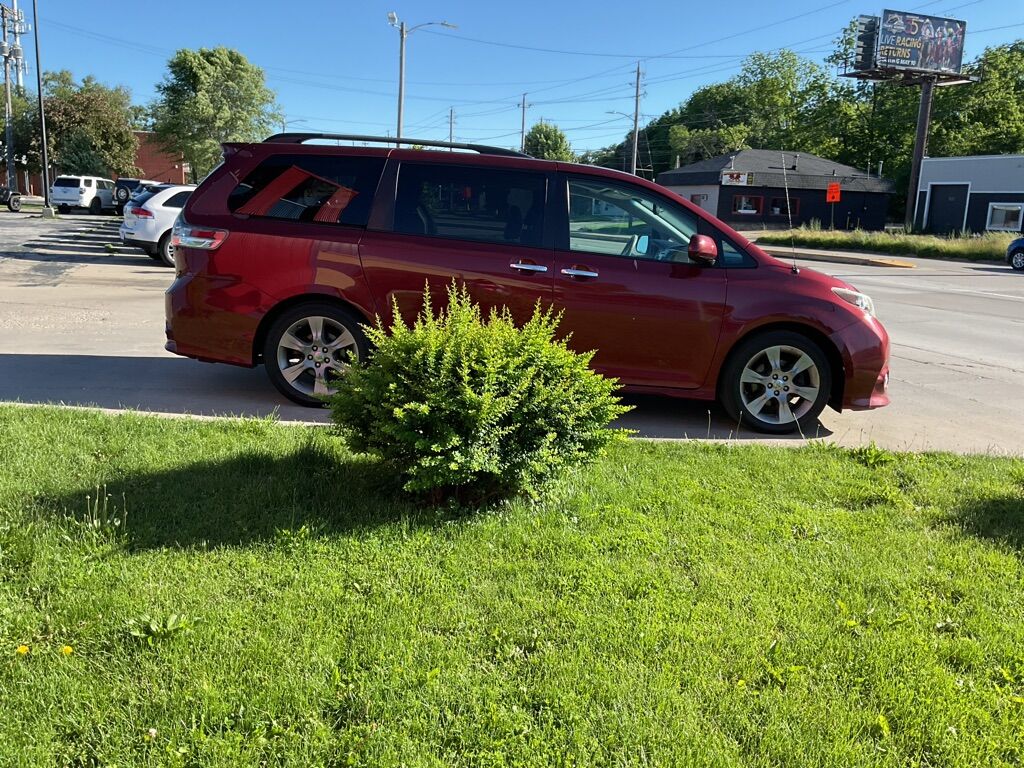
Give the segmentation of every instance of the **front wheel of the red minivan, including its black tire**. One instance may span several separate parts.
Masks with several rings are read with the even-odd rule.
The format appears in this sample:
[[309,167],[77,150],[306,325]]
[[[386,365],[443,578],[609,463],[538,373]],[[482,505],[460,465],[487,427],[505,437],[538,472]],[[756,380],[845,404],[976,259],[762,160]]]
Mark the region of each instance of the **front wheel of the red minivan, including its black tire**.
[[[804,368],[805,356],[810,367]],[[791,372],[798,367],[801,370],[794,376]],[[803,334],[768,331],[741,341],[729,354],[719,379],[719,399],[741,426],[769,434],[798,430],[813,434],[812,427],[828,402],[831,381],[833,372],[821,347]],[[787,387],[813,393],[813,398]]]

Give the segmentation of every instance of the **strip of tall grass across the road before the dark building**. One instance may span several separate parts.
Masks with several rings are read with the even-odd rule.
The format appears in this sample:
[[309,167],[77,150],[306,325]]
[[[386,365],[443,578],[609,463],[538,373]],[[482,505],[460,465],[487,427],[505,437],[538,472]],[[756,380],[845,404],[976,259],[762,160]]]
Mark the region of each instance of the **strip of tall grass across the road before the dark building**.
[[[803,248],[824,248],[845,251],[867,251],[896,256],[920,256],[934,259],[964,259],[967,261],[1005,261],[1007,246],[1016,238],[1010,232],[986,232],[975,237],[938,238],[934,234],[903,234],[855,229],[800,228],[771,232],[758,237],[761,245],[787,246],[795,242]],[[792,239],[792,240],[791,240]]]

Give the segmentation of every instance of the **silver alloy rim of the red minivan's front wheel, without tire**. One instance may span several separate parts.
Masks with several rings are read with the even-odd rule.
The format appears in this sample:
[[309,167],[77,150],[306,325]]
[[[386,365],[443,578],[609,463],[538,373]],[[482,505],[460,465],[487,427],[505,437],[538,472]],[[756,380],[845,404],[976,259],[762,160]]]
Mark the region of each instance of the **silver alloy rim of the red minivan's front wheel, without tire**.
[[798,347],[767,347],[751,357],[739,376],[739,396],[750,413],[768,424],[792,424],[814,407],[821,388],[818,367]]

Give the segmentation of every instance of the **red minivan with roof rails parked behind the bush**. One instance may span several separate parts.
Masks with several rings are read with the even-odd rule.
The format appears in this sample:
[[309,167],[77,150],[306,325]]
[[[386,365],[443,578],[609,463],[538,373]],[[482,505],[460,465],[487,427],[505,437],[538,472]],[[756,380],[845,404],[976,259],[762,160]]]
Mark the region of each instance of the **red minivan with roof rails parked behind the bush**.
[[167,349],[262,362],[286,396],[321,404],[367,355],[364,325],[394,305],[411,319],[425,285],[440,298],[455,279],[518,319],[553,305],[570,345],[629,391],[717,398],[762,431],[889,402],[867,296],[657,184],[474,144],[334,139],[368,137],[224,145],[175,225]]

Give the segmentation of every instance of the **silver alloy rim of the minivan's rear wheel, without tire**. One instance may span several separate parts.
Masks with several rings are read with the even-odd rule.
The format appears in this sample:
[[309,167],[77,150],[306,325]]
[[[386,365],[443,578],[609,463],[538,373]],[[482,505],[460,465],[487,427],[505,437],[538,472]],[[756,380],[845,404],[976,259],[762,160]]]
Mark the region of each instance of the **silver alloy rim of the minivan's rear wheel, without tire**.
[[344,375],[358,359],[351,332],[331,317],[314,315],[296,321],[278,342],[278,368],[285,380],[306,395],[328,395],[329,379]]

